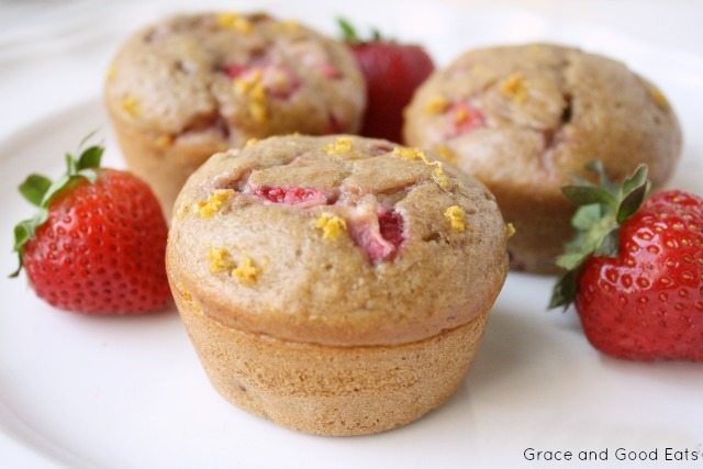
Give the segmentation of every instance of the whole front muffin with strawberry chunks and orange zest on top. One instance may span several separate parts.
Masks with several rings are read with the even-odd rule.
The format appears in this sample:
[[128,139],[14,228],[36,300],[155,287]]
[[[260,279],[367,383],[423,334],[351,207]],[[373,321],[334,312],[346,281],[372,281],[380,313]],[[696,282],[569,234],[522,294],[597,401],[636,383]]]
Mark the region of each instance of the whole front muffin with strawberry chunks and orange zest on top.
[[507,270],[493,196],[429,153],[350,136],[214,155],[167,271],[212,384],[320,435],[408,424],[461,382]]

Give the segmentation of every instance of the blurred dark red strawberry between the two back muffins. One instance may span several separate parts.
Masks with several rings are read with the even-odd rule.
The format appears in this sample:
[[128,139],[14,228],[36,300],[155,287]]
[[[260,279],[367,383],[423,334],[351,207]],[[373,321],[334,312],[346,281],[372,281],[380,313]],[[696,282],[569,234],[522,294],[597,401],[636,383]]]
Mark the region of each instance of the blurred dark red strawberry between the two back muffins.
[[402,143],[403,110],[435,69],[432,58],[419,45],[384,41],[378,32],[371,41],[361,41],[349,22],[337,22],[366,79],[361,135]]

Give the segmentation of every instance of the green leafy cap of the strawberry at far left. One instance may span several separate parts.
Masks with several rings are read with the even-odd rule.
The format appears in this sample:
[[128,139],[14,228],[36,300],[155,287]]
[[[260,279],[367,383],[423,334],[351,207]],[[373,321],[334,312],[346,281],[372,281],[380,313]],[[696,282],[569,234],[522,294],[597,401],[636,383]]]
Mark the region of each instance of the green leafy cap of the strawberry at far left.
[[98,174],[94,168],[100,167],[104,148],[100,145],[91,145],[81,152],[80,147],[83,146],[86,139],[79,146],[80,155],[78,158],[75,158],[70,153],[66,154],[66,172],[60,178],[52,181],[46,176],[32,174],[18,187],[22,197],[36,206],[37,211],[34,216],[22,220],[14,226],[14,246],[12,250],[18,254],[19,266],[15,271],[10,273],[10,278],[20,275],[23,265],[24,246],[30,239],[34,238],[36,230],[48,220],[48,208],[56,196],[74,186],[79,179],[87,179],[90,183],[94,183],[98,180]]

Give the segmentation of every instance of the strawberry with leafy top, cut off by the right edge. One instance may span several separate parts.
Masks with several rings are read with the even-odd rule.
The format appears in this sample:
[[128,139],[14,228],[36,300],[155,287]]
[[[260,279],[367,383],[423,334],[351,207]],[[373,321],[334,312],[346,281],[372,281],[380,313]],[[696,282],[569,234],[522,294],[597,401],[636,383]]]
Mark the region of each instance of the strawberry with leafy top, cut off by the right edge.
[[[640,167],[622,187],[571,186],[577,237],[551,306],[576,308],[599,350],[618,358],[703,360],[703,199],[648,191]],[[641,206],[640,206],[641,204]]]

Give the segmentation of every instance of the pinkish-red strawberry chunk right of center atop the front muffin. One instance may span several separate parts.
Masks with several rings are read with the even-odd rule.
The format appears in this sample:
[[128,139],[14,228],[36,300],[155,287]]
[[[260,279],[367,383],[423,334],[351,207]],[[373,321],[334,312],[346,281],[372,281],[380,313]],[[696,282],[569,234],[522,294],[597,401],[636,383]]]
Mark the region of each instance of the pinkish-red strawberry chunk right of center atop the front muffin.
[[403,217],[394,210],[377,216],[357,216],[350,220],[349,235],[361,247],[371,263],[378,264],[395,257],[403,236]]

